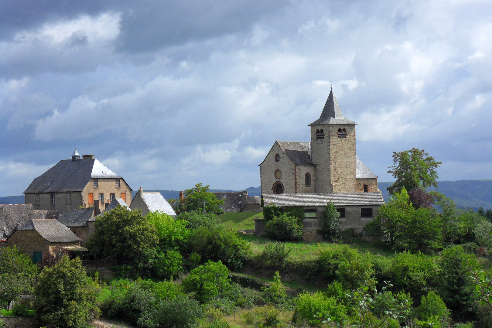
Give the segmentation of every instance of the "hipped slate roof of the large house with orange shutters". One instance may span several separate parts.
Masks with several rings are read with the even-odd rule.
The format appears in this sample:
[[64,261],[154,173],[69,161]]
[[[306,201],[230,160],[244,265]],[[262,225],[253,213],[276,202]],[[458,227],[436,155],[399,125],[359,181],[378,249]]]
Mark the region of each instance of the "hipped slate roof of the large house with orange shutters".
[[123,179],[97,159],[62,159],[32,180],[24,194],[82,191],[92,178]]

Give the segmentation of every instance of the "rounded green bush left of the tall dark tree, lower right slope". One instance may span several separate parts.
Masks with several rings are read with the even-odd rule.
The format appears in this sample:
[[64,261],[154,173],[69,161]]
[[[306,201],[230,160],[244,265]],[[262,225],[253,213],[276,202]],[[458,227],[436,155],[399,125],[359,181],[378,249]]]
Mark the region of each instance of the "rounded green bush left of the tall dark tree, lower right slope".
[[409,292],[412,298],[420,298],[431,290],[436,272],[437,267],[431,257],[404,251],[392,257],[388,275],[397,290]]

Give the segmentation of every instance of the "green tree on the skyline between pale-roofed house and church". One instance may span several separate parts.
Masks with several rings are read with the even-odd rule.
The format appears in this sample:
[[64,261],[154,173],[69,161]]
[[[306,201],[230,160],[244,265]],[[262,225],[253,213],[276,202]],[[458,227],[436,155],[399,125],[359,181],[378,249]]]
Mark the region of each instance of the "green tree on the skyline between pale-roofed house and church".
[[223,200],[217,199],[215,194],[208,192],[210,185],[203,186],[202,183],[195,184],[194,188],[184,190],[184,197],[181,200],[171,199],[170,204],[178,214],[190,210],[203,210],[206,212],[218,212],[220,205],[225,204]]

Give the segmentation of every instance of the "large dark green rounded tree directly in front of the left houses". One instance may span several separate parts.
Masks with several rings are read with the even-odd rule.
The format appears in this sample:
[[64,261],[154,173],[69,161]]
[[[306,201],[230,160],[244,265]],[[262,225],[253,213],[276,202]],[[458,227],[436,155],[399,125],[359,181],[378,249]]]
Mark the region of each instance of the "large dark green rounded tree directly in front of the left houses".
[[86,245],[97,259],[134,264],[136,260],[149,260],[158,241],[156,229],[142,217],[141,210],[129,211],[119,205],[94,222],[94,232]]

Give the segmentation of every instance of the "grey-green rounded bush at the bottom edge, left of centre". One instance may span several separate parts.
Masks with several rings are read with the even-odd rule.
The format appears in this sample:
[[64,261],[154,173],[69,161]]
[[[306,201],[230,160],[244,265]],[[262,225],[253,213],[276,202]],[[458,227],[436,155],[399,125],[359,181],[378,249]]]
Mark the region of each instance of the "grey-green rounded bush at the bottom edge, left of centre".
[[184,294],[159,305],[159,322],[164,328],[192,328],[201,316],[200,304]]

